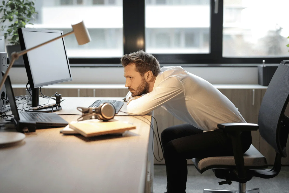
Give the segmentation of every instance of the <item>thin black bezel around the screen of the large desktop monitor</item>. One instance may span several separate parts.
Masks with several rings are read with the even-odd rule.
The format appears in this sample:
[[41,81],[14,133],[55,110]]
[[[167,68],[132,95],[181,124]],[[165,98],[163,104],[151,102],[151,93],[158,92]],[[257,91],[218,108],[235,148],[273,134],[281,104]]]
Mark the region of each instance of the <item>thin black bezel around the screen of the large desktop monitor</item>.
[[[46,30],[46,29],[34,29],[34,28],[18,28],[18,35],[19,35],[19,42],[20,42],[20,46],[21,46],[21,50],[25,50],[26,46],[25,46],[25,41],[24,41],[24,36],[23,36],[23,32],[24,31],[30,31],[30,32],[50,32],[50,33],[58,33],[63,35],[63,31],[62,30]],[[26,73],[27,73],[27,78],[29,81],[29,85],[32,89],[34,88],[39,88],[39,87],[44,87],[47,85],[51,85],[51,84],[57,84],[57,83],[62,83],[62,82],[67,82],[67,81],[71,81],[72,80],[72,76],[71,76],[71,69],[70,69],[70,65],[69,65],[69,60],[68,60],[68,56],[67,56],[67,52],[66,52],[66,46],[65,46],[65,41],[64,38],[62,39],[62,43],[64,46],[64,52],[66,55],[66,61],[67,61],[67,65],[68,65],[68,70],[69,70],[69,75],[70,78],[64,78],[61,80],[55,80],[55,81],[50,81],[50,82],[44,82],[41,84],[34,84],[34,80],[32,77],[32,71],[30,69],[30,65],[29,65],[29,58],[27,56],[27,54],[23,55],[23,60],[24,60],[24,65],[25,65],[25,69],[26,69]],[[48,68],[49,69],[49,68]],[[53,70],[57,70],[57,69],[49,69],[49,71],[51,71],[51,73],[53,73]],[[44,72],[44,71],[43,71]]]

